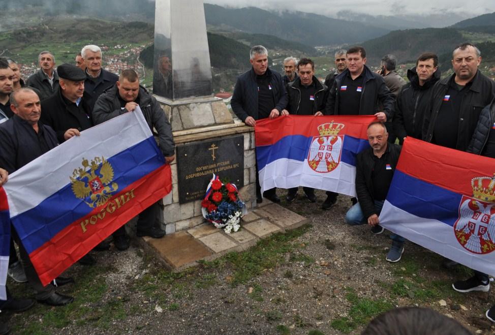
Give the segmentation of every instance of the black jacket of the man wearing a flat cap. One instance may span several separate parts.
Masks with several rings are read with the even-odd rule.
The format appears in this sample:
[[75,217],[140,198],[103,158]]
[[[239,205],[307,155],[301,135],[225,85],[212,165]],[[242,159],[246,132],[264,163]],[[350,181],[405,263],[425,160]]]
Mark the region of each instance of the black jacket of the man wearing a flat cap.
[[59,143],[65,141],[64,134],[68,129],[75,128],[83,131],[93,126],[91,110],[86,99],[86,94],[84,94],[80,102],[84,112],[70,108],[69,100],[62,96],[60,89],[56,94],[41,102],[41,120],[43,124],[50,126],[55,131]]

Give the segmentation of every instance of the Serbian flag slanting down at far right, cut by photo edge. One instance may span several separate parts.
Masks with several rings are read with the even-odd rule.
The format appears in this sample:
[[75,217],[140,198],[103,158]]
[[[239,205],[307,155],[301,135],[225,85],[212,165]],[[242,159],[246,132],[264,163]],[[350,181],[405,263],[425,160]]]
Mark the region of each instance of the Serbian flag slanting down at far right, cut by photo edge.
[[406,138],[380,225],[495,275],[495,159]]

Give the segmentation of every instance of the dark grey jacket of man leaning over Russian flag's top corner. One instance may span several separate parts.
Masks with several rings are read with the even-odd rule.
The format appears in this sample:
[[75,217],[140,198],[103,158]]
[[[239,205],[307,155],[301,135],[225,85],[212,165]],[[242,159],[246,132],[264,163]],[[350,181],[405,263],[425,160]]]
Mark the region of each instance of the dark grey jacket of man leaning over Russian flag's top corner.
[[[172,136],[172,127],[168,121],[167,115],[158,103],[157,99],[152,97],[144,87],[139,86],[139,107],[143,112],[144,119],[148,124],[149,129],[153,132],[153,128],[158,132],[159,146],[165,157],[173,156],[175,153],[175,143]],[[93,110],[92,117],[95,125],[104,123],[105,121],[116,116],[127,113],[127,109],[122,109],[119,99],[117,85],[108,89],[98,98]]]

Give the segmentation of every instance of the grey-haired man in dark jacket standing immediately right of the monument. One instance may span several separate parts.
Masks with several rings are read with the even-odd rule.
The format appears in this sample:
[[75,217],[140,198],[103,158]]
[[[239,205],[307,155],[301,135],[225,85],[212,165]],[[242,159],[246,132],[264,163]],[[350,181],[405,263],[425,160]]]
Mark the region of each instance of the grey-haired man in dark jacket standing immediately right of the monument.
[[[282,115],[287,107],[287,92],[282,76],[268,68],[268,51],[264,46],[257,45],[250,51],[251,70],[237,78],[230,105],[234,113],[247,126],[254,127],[256,120],[275,118]],[[288,113],[287,113],[288,114]],[[265,191],[265,198],[280,202],[276,189]],[[256,166],[256,201],[263,201],[258,180],[258,165]]]

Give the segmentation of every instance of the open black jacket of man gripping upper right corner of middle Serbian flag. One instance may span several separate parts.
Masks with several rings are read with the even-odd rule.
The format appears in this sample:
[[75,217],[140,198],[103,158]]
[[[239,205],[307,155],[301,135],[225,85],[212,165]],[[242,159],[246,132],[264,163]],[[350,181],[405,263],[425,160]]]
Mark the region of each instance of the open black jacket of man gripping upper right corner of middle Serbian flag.
[[[394,112],[395,98],[390,93],[383,77],[372,72],[365,65],[363,70],[364,82],[361,91],[361,101],[359,104],[359,115],[374,115],[378,110],[378,102],[383,105],[383,112],[387,115],[387,120],[392,119]],[[340,96],[340,87],[342,79],[349,75],[349,69],[346,69],[341,74],[335,77],[333,86],[330,88],[328,100],[325,107],[325,115],[341,115],[338,110],[338,102]]]

